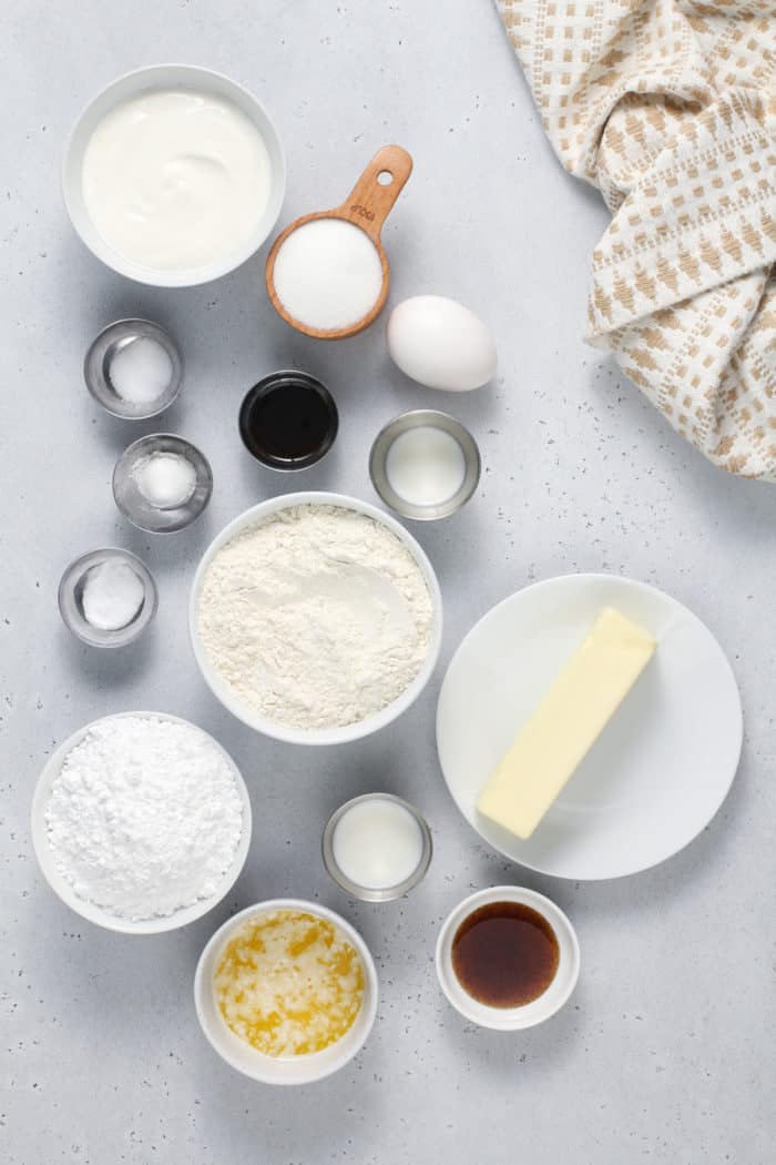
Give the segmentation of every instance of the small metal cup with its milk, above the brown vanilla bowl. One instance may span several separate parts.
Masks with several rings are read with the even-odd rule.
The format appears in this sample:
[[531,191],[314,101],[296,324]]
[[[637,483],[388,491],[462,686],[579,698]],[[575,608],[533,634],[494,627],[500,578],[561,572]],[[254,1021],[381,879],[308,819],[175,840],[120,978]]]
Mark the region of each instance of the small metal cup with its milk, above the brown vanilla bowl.
[[391,902],[425,877],[433,846],[414,805],[393,793],[364,793],[332,814],[322,850],[326,869],[350,897]]

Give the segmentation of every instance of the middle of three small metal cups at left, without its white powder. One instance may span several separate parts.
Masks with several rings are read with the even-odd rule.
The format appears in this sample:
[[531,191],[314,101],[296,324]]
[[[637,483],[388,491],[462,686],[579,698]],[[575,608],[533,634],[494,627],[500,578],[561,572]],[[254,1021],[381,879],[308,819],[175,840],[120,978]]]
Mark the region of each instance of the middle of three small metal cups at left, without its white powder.
[[[175,453],[185,457],[194,467],[197,485],[193,494],[179,506],[161,508],[149,502],[140,492],[134,478],[135,466],[154,453]],[[113,497],[131,525],[147,534],[177,534],[191,525],[207,508],[213,495],[213,471],[205,454],[185,437],[177,433],[148,433],[128,445],[113,469]]]

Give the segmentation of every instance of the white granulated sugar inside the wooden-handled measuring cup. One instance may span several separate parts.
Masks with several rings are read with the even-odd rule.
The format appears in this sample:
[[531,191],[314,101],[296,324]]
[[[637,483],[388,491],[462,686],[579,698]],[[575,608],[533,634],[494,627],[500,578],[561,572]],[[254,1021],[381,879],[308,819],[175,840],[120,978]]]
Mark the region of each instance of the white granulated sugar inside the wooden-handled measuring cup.
[[357,324],[383,289],[369,235],[342,219],[313,219],[292,231],[275,256],[278,299],[296,320],[320,331]]

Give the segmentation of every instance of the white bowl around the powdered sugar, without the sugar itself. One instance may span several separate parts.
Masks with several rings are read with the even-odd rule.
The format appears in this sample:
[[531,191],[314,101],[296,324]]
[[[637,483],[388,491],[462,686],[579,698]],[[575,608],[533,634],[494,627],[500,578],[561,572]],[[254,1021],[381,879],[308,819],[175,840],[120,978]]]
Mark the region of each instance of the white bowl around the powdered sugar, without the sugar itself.
[[[171,716],[165,712],[120,712],[118,715],[141,718],[148,716],[149,719],[169,720],[171,723],[179,725],[190,723],[190,721],[183,720],[180,716]],[[207,736],[207,739],[219,749],[225,760],[228,762],[242,802],[242,836],[240,838],[234,861],[232,862],[229,869],[223,874],[219,889],[209,898],[202,898],[200,902],[195,902],[192,906],[186,906],[184,910],[177,910],[173,915],[168,915],[164,918],[144,918],[138,922],[133,922],[128,918],[118,918],[115,915],[108,913],[100,906],[95,906],[94,903],[79,898],[71,884],[62,877],[55,864],[47,836],[45,807],[51,793],[54,778],[62,769],[67,754],[72,751],[76,744],[80,743],[91,728],[94,728],[97,725],[100,725],[106,720],[115,719],[116,715],[101,716],[99,720],[93,720],[91,723],[84,725],[83,728],[79,728],[78,732],[74,732],[72,736],[69,736],[67,740],[59,744],[57,750],[52,753],[47,761],[33,795],[33,849],[35,850],[37,863],[41,867],[41,873],[54,892],[62,898],[66,906],[70,906],[70,909],[74,910],[77,915],[80,915],[81,918],[86,918],[90,923],[95,923],[98,926],[102,926],[106,931],[120,931],[122,934],[159,934],[163,931],[175,931],[178,930],[179,926],[193,923],[195,918],[201,918],[202,915],[206,915],[208,910],[212,910],[213,906],[221,902],[225,895],[229,892],[232,887],[237,881],[242,868],[245,864],[245,857],[248,856],[248,849],[250,847],[250,798],[248,797],[245,782],[242,779],[237,765],[234,763],[226,749],[223,749],[221,744],[219,744],[219,742],[202,728],[198,728],[197,725],[190,725],[190,727],[198,728],[202,735]]]

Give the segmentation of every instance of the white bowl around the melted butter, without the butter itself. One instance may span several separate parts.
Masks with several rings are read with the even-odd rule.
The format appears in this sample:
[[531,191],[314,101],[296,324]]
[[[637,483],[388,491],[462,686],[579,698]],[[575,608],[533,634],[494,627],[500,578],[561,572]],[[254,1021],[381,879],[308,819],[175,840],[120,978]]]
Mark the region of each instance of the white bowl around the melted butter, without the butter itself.
[[[322,1052],[313,1052],[309,1055],[279,1059],[258,1052],[250,1044],[235,1036],[227,1026],[215,1000],[213,975],[223,945],[247,918],[268,910],[286,909],[305,910],[318,918],[326,918],[340,927],[361,956],[364,967],[364,997],[353,1026],[335,1044],[323,1048]],[[194,975],[197,1017],[212,1047],[237,1072],[242,1072],[252,1080],[261,1080],[265,1085],[308,1085],[315,1080],[323,1080],[344,1067],[361,1051],[372,1030],[377,1015],[377,996],[378,982],[375,960],[358,931],[340,915],[335,915],[333,910],[328,910],[316,902],[305,902],[300,898],[272,898],[241,910],[239,915],[235,915],[215,932],[200,955]]]

